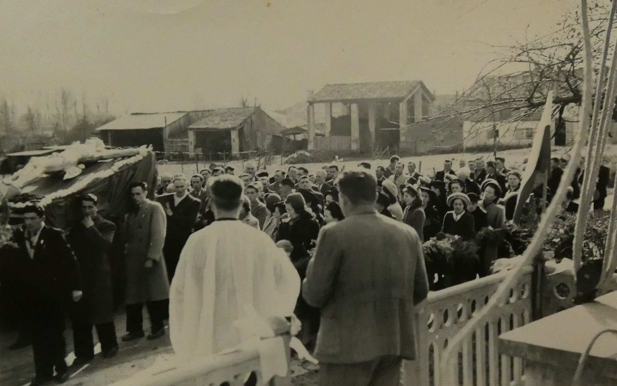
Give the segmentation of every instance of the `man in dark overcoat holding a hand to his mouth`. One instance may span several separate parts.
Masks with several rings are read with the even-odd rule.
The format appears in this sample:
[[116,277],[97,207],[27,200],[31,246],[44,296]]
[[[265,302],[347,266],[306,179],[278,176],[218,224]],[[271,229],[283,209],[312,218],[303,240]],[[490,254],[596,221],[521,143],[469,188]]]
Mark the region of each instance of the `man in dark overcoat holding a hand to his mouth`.
[[75,366],[94,359],[93,326],[96,326],[103,357],[111,358],[118,353],[111,268],[107,256],[116,226],[97,212],[96,195],[83,195],[78,202],[81,221],[67,235],[77,257],[83,291],[83,297],[71,312]]

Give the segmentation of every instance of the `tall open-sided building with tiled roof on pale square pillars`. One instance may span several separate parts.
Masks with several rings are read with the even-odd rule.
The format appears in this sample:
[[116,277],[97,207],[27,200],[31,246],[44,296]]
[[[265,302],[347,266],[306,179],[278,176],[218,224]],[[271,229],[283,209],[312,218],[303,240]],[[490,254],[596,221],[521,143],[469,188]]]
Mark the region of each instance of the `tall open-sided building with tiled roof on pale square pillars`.
[[[407,135],[413,134],[413,127],[407,130],[408,125],[428,117],[433,101],[433,94],[422,81],[326,84],[317,93],[310,93],[307,101],[309,149],[349,147],[352,152],[369,152],[376,147],[399,148]],[[316,104],[325,105],[323,139],[315,138]],[[333,104],[344,105],[346,112],[333,117]],[[340,141],[334,141],[334,137]]]

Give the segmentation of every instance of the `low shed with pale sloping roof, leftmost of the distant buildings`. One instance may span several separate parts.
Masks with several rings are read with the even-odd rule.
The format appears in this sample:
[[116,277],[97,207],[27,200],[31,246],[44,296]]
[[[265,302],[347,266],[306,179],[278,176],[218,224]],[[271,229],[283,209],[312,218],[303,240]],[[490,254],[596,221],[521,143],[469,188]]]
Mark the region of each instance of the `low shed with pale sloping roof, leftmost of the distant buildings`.
[[[194,113],[132,113],[117,118],[96,131],[107,146],[129,147],[152,145],[155,152],[169,152],[178,136],[186,138],[186,128]],[[188,149],[186,149],[188,150]],[[180,151],[180,150],[178,150]]]

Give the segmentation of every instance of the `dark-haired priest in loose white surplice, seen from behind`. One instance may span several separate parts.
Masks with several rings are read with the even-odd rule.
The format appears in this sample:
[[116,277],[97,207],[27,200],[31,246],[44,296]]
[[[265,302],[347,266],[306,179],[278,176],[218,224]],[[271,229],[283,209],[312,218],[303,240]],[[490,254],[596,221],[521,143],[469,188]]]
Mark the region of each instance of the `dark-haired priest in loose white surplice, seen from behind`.
[[208,189],[216,221],[189,237],[170,290],[172,346],[186,359],[276,331],[292,315],[300,292],[300,278],[283,250],[238,221],[242,181],[218,176],[209,179]]

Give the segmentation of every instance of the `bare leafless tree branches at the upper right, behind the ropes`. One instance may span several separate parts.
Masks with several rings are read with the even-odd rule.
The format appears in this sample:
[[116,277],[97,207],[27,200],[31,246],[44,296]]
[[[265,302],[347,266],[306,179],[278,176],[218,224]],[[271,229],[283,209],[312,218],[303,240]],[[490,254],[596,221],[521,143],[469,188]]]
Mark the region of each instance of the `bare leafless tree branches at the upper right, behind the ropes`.
[[[587,9],[595,76],[600,72],[610,6],[610,2],[593,2]],[[584,38],[579,13],[580,7],[567,12],[547,35],[512,46],[493,46],[497,59],[482,69],[473,86],[451,104],[436,106],[436,112],[424,120],[435,123],[431,135],[447,133],[461,121],[472,122],[468,135],[473,138],[486,135],[483,123],[487,121],[531,120],[539,117],[549,91],[555,94],[553,116],[558,119],[557,127],[565,128],[566,110],[578,108],[582,102]],[[593,98],[595,103],[596,96]],[[498,142],[496,148],[508,145]]]

